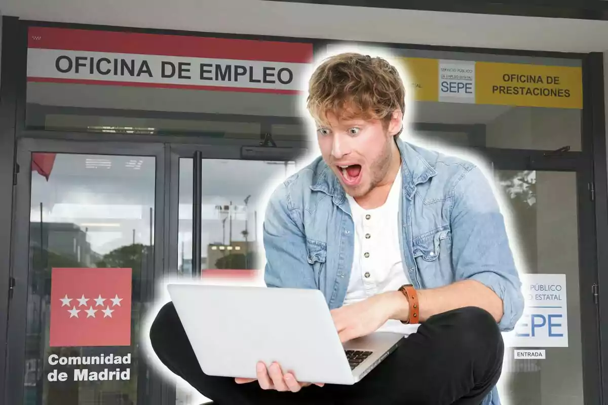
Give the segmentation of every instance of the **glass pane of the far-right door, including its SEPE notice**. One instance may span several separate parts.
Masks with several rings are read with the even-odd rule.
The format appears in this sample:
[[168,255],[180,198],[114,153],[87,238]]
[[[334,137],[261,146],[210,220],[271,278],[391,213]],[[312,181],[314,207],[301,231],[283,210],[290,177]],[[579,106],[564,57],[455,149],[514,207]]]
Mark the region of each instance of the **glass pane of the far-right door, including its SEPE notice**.
[[[517,236],[513,243],[528,299],[518,327],[509,336],[514,347],[506,350],[503,368],[505,403],[583,404],[576,173],[501,170],[495,174]],[[534,279],[527,283],[528,274]],[[554,274],[563,282],[549,288]],[[548,291],[557,289],[559,293]],[[530,299],[538,296],[544,298],[542,305],[536,302],[541,300]],[[522,340],[533,346],[520,346]],[[542,350],[544,358],[517,358],[516,353],[525,352],[516,350]]]

